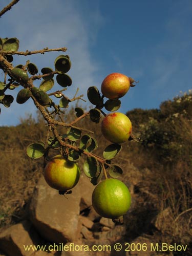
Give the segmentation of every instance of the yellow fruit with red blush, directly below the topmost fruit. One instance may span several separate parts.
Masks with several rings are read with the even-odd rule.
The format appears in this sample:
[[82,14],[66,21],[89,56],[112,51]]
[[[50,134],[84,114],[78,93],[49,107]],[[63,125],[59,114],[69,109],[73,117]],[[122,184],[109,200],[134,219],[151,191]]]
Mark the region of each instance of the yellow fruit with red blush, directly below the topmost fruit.
[[101,122],[101,132],[105,139],[113,143],[123,143],[131,135],[132,123],[129,117],[120,112],[110,113]]

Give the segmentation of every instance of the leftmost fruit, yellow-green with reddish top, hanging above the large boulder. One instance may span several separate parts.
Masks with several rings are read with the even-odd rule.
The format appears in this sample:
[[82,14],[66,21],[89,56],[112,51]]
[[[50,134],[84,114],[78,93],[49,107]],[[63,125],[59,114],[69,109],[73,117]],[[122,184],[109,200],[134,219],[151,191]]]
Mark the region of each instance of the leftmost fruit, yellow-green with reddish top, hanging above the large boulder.
[[80,169],[77,163],[57,155],[47,163],[44,177],[50,187],[59,191],[67,191],[78,183]]

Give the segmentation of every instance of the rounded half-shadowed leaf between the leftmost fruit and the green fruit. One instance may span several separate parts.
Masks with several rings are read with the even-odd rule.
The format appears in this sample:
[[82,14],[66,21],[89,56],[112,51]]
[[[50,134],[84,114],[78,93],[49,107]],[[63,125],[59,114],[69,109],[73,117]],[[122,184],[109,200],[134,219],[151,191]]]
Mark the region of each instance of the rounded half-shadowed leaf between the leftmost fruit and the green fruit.
[[84,174],[89,177],[97,177],[99,175],[99,162],[94,157],[88,157],[83,163]]

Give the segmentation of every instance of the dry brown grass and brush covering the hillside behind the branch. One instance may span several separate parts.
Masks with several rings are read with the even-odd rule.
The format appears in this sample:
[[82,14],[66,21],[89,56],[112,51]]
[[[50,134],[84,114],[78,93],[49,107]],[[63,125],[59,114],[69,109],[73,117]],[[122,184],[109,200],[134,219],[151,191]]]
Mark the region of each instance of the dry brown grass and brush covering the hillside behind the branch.
[[[124,170],[121,179],[133,195],[130,214],[125,218],[126,238],[132,240],[144,233],[155,236],[157,242],[192,247],[191,113],[191,92],[163,102],[159,110],[127,112],[135,139],[123,143],[122,152],[115,158]],[[68,118],[73,119],[73,109]],[[96,153],[102,155],[109,142],[103,139],[99,124],[86,119],[80,125],[95,132],[99,144]],[[44,140],[45,122],[29,117],[16,127],[1,127],[0,133],[0,227],[3,228],[25,218],[44,166],[44,159],[29,159],[25,148],[36,140]],[[155,224],[157,215],[160,217]],[[188,250],[185,255],[192,254]]]

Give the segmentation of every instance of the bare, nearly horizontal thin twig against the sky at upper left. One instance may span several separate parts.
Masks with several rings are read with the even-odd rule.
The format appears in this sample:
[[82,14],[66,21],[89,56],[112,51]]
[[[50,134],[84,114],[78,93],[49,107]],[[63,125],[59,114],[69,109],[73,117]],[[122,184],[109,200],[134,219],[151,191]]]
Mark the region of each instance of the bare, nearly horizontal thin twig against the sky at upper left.
[[45,52],[60,52],[60,51],[66,52],[67,48],[61,47],[61,48],[56,48],[56,49],[49,49],[48,47],[46,47],[44,49],[37,50],[37,51],[28,51],[28,50],[26,50],[25,52],[0,51],[0,53],[1,54],[11,54],[11,55],[17,54],[17,55],[27,56],[27,55],[37,54],[37,53],[44,54]]

